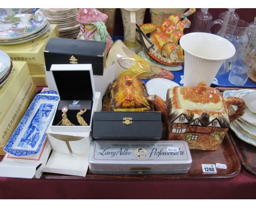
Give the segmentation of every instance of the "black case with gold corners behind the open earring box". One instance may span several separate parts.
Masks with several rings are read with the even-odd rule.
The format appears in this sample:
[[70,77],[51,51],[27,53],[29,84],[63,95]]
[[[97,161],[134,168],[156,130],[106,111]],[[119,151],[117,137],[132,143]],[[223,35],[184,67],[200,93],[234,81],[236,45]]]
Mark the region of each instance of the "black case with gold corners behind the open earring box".
[[51,38],[44,49],[46,71],[52,64],[91,64],[94,75],[103,75],[106,42]]

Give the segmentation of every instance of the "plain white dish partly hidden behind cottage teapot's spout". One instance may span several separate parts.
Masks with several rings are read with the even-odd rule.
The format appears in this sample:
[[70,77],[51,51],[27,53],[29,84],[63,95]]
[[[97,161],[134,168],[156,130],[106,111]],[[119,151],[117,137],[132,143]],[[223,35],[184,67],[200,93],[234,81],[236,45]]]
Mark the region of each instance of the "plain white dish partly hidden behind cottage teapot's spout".
[[148,94],[158,95],[162,100],[166,100],[167,90],[176,86],[179,86],[179,84],[164,78],[150,79],[146,84]]

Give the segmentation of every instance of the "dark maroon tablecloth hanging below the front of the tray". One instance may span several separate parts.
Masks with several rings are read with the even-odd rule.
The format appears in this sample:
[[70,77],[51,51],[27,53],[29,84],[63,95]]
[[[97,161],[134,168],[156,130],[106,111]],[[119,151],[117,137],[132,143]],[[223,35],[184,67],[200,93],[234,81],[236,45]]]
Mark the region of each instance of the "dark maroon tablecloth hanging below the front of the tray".
[[[2,160],[0,156],[0,161]],[[255,199],[256,175],[229,179],[86,180],[0,177],[0,199]]]

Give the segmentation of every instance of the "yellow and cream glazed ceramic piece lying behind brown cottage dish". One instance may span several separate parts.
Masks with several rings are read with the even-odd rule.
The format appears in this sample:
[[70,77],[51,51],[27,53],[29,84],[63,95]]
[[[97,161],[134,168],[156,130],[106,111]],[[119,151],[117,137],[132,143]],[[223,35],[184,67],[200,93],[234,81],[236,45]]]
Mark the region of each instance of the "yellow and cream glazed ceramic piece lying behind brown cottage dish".
[[115,78],[124,75],[132,75],[140,79],[165,78],[172,80],[174,78],[172,72],[147,62],[127,48],[121,40],[114,42],[106,60],[106,68],[113,63],[117,63]]

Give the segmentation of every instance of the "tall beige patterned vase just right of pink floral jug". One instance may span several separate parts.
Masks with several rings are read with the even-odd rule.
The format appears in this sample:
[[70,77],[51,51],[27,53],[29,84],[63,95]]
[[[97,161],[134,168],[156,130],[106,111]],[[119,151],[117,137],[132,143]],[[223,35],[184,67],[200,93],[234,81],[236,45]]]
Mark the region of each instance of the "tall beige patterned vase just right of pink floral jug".
[[124,25],[124,44],[133,52],[142,51],[142,46],[136,39],[139,35],[136,34],[136,23],[142,25],[144,21],[146,9],[121,9]]

